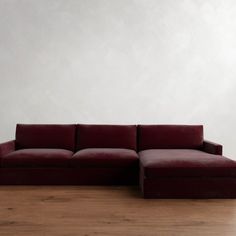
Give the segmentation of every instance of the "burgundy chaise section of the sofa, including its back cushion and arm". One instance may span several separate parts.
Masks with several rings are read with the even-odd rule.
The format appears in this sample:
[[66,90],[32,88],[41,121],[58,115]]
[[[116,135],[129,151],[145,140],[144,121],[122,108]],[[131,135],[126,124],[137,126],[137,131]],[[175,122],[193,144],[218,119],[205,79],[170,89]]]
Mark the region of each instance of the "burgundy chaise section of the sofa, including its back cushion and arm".
[[140,125],[144,198],[235,198],[236,162],[203,140],[202,126]]

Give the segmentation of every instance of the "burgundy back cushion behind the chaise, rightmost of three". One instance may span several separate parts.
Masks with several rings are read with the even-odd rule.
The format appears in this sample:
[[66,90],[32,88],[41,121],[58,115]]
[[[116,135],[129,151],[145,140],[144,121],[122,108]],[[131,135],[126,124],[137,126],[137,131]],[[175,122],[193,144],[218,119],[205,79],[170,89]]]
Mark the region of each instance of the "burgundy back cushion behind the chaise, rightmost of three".
[[186,148],[203,145],[202,125],[139,125],[138,150]]

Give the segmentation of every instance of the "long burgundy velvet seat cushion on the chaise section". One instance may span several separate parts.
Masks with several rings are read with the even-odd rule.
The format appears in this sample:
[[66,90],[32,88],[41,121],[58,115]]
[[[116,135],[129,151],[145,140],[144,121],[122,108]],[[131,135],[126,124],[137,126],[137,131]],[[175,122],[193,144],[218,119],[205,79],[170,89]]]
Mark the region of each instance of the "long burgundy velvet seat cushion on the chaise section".
[[236,162],[191,149],[150,149],[139,152],[147,178],[236,176]]

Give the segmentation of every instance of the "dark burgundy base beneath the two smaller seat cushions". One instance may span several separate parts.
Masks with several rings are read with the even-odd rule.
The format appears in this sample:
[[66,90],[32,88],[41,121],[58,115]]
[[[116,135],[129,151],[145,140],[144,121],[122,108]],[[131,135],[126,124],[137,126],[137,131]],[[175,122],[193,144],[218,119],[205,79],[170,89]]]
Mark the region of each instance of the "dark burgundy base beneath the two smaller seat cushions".
[[1,168],[0,185],[137,185],[138,170],[120,168]]

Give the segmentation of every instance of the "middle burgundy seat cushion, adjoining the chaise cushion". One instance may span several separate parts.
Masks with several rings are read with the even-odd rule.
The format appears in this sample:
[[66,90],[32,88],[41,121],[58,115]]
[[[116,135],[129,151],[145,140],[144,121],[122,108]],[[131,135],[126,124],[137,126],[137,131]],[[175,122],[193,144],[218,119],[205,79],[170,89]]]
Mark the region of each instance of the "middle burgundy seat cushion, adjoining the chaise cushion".
[[132,167],[138,166],[135,151],[122,148],[87,148],[76,152],[72,167]]

